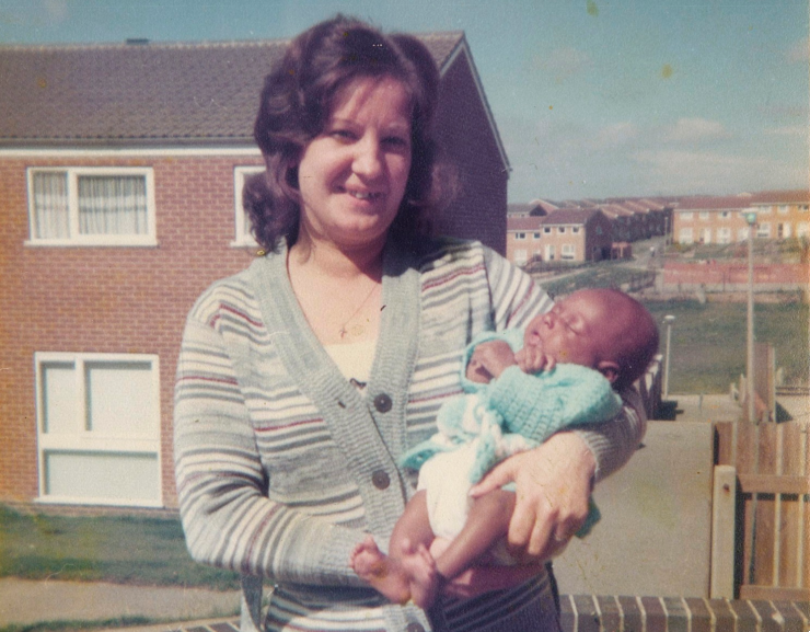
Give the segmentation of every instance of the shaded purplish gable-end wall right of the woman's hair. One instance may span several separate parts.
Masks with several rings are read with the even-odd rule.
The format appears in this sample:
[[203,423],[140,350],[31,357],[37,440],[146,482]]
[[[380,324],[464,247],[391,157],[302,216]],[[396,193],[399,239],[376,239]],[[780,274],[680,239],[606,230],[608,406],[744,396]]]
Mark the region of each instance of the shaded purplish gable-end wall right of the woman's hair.
[[509,174],[463,55],[443,76],[440,91],[437,135],[459,170],[461,186],[437,222],[439,231],[481,240],[505,254]]

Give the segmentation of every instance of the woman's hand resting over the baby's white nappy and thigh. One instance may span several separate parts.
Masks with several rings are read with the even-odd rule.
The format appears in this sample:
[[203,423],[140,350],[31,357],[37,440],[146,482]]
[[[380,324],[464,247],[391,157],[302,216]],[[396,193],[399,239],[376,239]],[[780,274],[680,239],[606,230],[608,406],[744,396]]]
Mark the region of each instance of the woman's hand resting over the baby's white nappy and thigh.
[[558,555],[588,516],[597,461],[575,433],[557,433],[544,444],[493,468],[473,497],[514,482],[517,499],[509,522],[512,555],[525,562]]

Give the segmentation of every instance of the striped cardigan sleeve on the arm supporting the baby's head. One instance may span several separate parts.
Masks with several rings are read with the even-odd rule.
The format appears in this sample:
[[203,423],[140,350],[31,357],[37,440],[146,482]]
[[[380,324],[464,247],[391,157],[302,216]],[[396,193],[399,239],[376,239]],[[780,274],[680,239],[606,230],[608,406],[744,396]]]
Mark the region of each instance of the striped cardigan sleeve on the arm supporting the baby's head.
[[[534,315],[548,311],[554,304],[528,274],[502,256],[487,250],[485,262],[496,331],[524,326]],[[647,415],[638,392],[629,388],[620,395],[624,405],[613,420],[574,430],[597,460],[597,481],[630,459],[647,429]]]

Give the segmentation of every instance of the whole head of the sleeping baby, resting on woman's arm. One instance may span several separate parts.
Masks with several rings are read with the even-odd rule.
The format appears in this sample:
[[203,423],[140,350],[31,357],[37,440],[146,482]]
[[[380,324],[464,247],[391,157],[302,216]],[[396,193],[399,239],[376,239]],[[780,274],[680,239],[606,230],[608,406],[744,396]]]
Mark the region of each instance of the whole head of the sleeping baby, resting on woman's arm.
[[636,299],[614,289],[582,289],[535,317],[523,345],[557,363],[582,365],[621,390],[636,381],[658,352],[658,328]]

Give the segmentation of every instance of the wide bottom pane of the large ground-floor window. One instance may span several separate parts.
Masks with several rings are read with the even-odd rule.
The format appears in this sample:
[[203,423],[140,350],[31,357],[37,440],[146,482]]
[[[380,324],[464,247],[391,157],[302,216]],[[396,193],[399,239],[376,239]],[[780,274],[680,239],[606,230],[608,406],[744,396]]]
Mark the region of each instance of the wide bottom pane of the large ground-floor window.
[[158,456],[46,452],[45,493],[71,498],[157,502],[160,498]]

